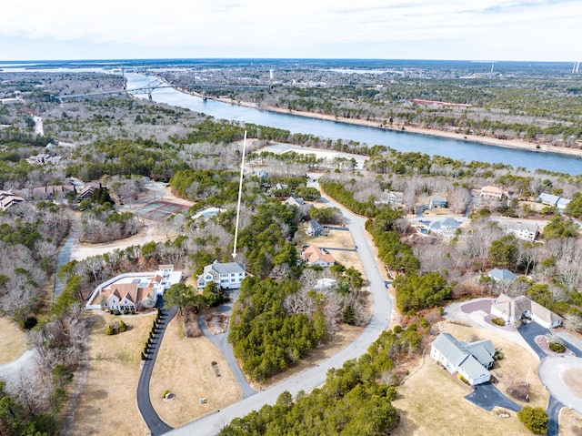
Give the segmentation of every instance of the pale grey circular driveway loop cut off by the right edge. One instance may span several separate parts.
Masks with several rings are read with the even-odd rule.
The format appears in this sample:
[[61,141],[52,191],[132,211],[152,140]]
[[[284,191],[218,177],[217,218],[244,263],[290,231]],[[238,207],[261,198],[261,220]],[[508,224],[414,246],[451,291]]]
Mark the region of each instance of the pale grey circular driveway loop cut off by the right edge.
[[566,407],[582,413],[582,399],[568,390],[560,374],[564,370],[582,370],[582,359],[577,357],[548,357],[539,364],[537,374],[547,390]]

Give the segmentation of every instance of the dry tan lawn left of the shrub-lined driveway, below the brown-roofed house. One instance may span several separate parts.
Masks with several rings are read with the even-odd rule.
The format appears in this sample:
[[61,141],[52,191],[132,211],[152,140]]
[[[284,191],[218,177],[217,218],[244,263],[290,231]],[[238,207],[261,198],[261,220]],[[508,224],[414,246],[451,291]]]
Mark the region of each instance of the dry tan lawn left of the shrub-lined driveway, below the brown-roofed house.
[[[143,436],[146,423],[137,410],[135,390],[141,373],[140,352],[156,317],[143,315],[97,317],[89,334],[89,373],[75,413],[71,436]],[[123,319],[128,330],[105,335],[105,325]]]

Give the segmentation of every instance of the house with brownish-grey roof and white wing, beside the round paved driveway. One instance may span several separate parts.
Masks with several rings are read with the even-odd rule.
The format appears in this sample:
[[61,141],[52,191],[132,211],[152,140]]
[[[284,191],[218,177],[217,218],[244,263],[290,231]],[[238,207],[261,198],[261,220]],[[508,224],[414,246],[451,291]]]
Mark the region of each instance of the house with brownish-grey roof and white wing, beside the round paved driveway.
[[506,294],[499,295],[491,305],[491,314],[505,319],[508,324],[513,324],[518,319],[532,319],[546,329],[557,327],[562,323],[562,318],[557,314],[524,295],[515,299]]

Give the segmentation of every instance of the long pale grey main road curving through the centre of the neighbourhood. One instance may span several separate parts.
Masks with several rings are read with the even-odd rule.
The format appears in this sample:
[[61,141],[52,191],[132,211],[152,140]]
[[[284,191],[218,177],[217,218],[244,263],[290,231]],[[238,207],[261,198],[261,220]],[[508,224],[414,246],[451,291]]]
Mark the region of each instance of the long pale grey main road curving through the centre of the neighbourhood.
[[386,291],[386,285],[380,269],[376,264],[376,258],[374,257],[372,248],[370,248],[366,238],[364,229],[366,218],[356,217],[346,210],[346,208],[336,205],[325,198],[322,198],[322,202],[332,203],[331,206],[339,208],[342,211],[344,219],[346,220],[346,226],[349,228],[354,243],[358,248],[362,267],[366,272],[370,291],[374,298],[374,312],[366,329],[354,342],[315,368],[305,370],[290,379],[282,381],[276,386],[261,390],[255,395],[231,404],[226,409],[221,409],[199,420],[189,422],[179,429],[170,431],[168,435],[214,435],[234,418],[245,416],[251,411],[260,409],[265,404],[274,404],[279,394],[285,390],[291,392],[293,396],[296,396],[299,390],[313,390],[326,381],[327,370],[330,368],[340,368],[346,360],[355,359],[364,354],[369,345],[389,326],[390,317],[392,316],[392,302]]

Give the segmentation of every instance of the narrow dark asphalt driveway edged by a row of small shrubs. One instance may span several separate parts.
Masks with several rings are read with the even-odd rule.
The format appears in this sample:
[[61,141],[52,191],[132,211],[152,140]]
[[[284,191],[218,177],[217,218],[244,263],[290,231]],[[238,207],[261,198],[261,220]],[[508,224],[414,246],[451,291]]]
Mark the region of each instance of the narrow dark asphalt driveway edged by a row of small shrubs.
[[152,370],[154,370],[154,364],[156,363],[157,351],[159,350],[162,339],[164,338],[164,333],[166,333],[166,327],[176,316],[176,312],[177,308],[162,309],[160,324],[157,328],[156,335],[154,335],[152,346],[149,349],[147,360],[144,363],[144,368],[142,369],[142,373],[139,376],[139,382],[137,383],[137,408],[142,414],[144,421],[146,421],[147,428],[152,436],[159,436],[173,429],[173,427],[167,425],[166,422],[162,421],[160,417],[157,416],[156,410],[154,410],[154,407],[152,406],[152,401],[150,401],[149,398],[149,380],[152,377]]

